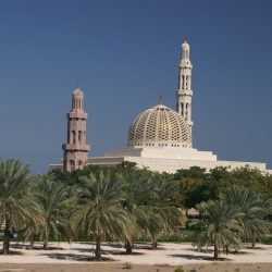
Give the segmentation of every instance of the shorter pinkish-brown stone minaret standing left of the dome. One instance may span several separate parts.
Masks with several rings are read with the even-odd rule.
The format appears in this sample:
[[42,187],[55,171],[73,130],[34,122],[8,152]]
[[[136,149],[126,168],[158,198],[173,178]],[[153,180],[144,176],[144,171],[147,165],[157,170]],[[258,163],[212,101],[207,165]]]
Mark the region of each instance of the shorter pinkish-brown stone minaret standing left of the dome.
[[62,145],[64,152],[63,171],[83,169],[90,146],[86,144],[87,113],[83,108],[84,94],[77,87],[72,95],[72,109],[67,116],[67,140]]

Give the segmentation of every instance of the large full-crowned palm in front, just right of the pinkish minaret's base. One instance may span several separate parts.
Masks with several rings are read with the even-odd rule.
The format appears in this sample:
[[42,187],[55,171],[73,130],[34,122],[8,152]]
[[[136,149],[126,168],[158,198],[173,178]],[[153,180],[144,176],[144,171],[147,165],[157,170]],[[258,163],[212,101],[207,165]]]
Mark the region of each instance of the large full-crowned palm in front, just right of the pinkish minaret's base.
[[81,176],[82,190],[74,224],[92,234],[96,239],[96,260],[101,260],[103,237],[131,240],[133,223],[122,206],[124,184],[109,170]]

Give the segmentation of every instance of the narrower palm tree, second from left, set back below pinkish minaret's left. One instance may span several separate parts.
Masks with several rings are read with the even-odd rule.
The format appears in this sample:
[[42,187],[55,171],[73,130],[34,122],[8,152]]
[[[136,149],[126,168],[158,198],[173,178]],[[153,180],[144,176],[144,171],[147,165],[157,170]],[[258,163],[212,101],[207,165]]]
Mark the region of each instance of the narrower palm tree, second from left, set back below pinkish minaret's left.
[[67,208],[67,190],[64,184],[52,181],[50,174],[44,174],[37,177],[34,197],[41,217],[39,232],[44,249],[48,249],[50,233],[58,239],[60,232],[66,230],[67,219],[64,215],[64,208]]

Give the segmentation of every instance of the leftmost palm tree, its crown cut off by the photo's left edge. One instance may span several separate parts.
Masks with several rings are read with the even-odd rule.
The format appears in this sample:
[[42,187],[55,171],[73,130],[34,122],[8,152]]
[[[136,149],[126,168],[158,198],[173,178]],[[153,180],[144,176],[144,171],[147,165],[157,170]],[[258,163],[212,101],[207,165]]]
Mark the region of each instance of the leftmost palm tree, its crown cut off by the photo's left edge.
[[29,195],[29,166],[20,160],[0,162],[0,225],[4,224],[3,254],[10,251],[14,228],[36,219],[37,206]]

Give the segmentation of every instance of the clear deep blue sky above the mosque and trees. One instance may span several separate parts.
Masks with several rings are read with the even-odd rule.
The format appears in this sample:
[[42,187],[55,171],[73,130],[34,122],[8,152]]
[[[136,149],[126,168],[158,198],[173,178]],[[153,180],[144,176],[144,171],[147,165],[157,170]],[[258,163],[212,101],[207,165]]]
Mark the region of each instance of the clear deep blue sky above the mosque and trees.
[[0,157],[34,173],[62,158],[79,82],[91,156],[126,144],[133,119],[175,107],[190,44],[194,147],[272,168],[270,0],[1,0]]

